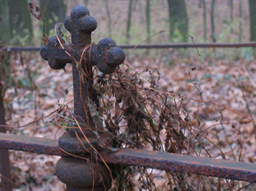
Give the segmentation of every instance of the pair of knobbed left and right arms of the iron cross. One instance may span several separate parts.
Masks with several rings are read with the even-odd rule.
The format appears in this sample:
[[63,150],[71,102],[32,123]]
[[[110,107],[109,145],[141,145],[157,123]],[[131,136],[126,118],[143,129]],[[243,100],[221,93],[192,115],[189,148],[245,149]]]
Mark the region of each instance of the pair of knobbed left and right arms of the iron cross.
[[[70,45],[66,45],[63,38],[59,37],[59,40],[62,42],[64,50],[72,54],[73,51],[69,48]],[[48,61],[52,69],[62,69],[67,63],[72,63],[72,58],[63,50],[56,36],[49,38],[49,41],[46,46],[42,46],[40,55]],[[86,59],[91,64],[97,65],[102,73],[112,73],[118,65],[124,62],[125,53],[123,49],[116,45],[114,40],[104,38],[98,45],[93,45],[91,49],[87,49]]]

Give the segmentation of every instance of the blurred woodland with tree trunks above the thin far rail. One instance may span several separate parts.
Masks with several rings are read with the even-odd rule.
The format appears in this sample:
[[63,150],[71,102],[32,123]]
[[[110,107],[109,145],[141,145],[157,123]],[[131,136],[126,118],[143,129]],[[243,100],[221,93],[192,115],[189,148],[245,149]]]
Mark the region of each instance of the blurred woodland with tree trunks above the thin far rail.
[[48,37],[54,35],[55,24],[64,21],[67,10],[83,5],[91,10],[99,26],[104,25],[97,29],[95,39],[106,37],[108,32],[108,37],[115,38],[118,44],[137,44],[166,29],[174,30],[170,37],[162,34],[147,43],[186,42],[189,36],[185,33],[197,42],[256,41],[256,0],[0,0],[2,43],[27,46],[41,42],[43,22],[41,27],[38,21],[32,24],[35,18],[28,13],[30,1],[40,7]]

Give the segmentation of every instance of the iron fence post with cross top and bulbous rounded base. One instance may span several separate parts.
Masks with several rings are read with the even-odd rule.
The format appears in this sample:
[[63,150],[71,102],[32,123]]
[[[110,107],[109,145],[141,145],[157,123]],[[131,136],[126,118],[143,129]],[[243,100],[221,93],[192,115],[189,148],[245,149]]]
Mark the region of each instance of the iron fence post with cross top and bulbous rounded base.
[[[84,6],[72,9],[64,21],[64,27],[71,33],[72,44],[65,44],[61,37],[54,36],[41,48],[40,54],[53,69],[64,69],[67,63],[72,63],[74,117],[77,123],[59,138],[59,147],[80,158],[61,158],[56,165],[56,175],[67,185],[68,190],[91,190],[92,187],[94,190],[107,190],[110,185],[109,170],[96,160],[90,161],[91,154],[86,152],[91,151],[91,145],[103,150],[91,131],[103,127],[94,122],[87,102],[93,103],[95,107],[99,104],[97,92],[93,88],[93,65],[97,65],[102,73],[112,73],[117,65],[123,63],[125,54],[111,38],[91,45],[91,32],[97,28],[97,21]],[[106,146],[113,145],[110,135],[100,135]],[[85,136],[89,137],[90,143]]]

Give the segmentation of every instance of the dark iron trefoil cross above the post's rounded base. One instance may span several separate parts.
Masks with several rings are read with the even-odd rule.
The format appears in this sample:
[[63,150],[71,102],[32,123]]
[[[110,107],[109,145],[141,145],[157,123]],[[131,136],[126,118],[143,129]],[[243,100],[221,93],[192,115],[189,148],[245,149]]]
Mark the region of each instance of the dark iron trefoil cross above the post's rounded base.
[[[75,6],[72,9],[71,15],[64,21],[64,27],[71,33],[72,44],[65,44],[63,38],[59,37],[58,40],[54,36],[41,48],[40,54],[53,69],[62,69],[67,63],[72,63],[74,115],[79,122],[93,127],[95,124],[86,104],[87,98],[96,104],[98,102],[92,87],[92,65],[96,65],[104,74],[112,73],[117,65],[123,63],[125,53],[111,38],[104,38],[98,45],[87,48],[85,55],[82,55],[83,50],[91,45],[91,32],[97,28],[97,21],[84,6]],[[85,56],[86,61],[82,59],[80,63],[81,56]]]

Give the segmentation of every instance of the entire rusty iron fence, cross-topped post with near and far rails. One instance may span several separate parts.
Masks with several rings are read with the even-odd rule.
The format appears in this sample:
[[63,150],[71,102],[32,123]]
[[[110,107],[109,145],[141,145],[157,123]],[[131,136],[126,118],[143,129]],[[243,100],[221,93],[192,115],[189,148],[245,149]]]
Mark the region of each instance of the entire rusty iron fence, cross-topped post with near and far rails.
[[[22,135],[0,134],[0,148],[10,150],[21,150],[30,153],[47,155],[59,155],[62,158],[56,165],[56,175],[59,180],[67,185],[68,190],[91,190],[93,180],[91,179],[90,163],[83,157],[88,158],[86,149],[99,152],[98,162],[100,171],[109,174],[109,170],[102,162],[112,164],[123,164],[140,167],[150,167],[166,171],[200,174],[231,180],[242,180],[247,182],[256,181],[256,165],[253,163],[226,161],[213,158],[194,157],[191,155],[161,153],[158,151],[147,151],[139,149],[112,148],[112,151],[102,148],[97,139],[85,127],[95,126],[89,113],[85,100],[95,100],[92,88],[93,76],[92,65],[105,74],[112,73],[117,65],[123,63],[125,54],[123,49],[134,48],[135,45],[120,45],[111,38],[101,40],[98,45],[91,45],[91,32],[97,28],[97,21],[91,17],[89,10],[83,6],[75,6],[71,15],[64,21],[65,28],[72,34],[72,44],[65,44],[61,37],[51,37],[46,45],[40,48],[41,57],[48,61],[53,69],[66,67],[72,63],[72,76],[74,85],[74,116],[77,124],[71,128],[56,143],[53,139],[27,137]],[[256,46],[256,42],[242,44],[197,44],[197,47],[229,47],[238,48],[245,46]],[[137,48],[193,48],[194,44],[157,44],[140,45]],[[39,48],[9,48],[7,51],[39,50]],[[81,59],[84,55],[85,59]],[[89,64],[90,63],[90,64]],[[86,73],[83,73],[85,72]],[[81,80],[81,74],[83,80]],[[82,85],[81,85],[82,84]],[[83,124],[83,125],[79,125]],[[100,127],[102,128],[102,127]],[[86,136],[83,136],[86,135]],[[81,139],[77,139],[81,137]],[[90,137],[90,141],[85,137]],[[112,147],[113,141],[108,134],[101,134],[105,145]],[[71,157],[69,154],[78,155],[80,158]],[[89,157],[90,158],[90,157]],[[110,175],[111,176],[111,175]],[[109,176],[109,177],[110,177]],[[102,184],[109,181],[109,177],[100,180],[99,174],[94,174],[97,184],[94,190],[104,190]]]

